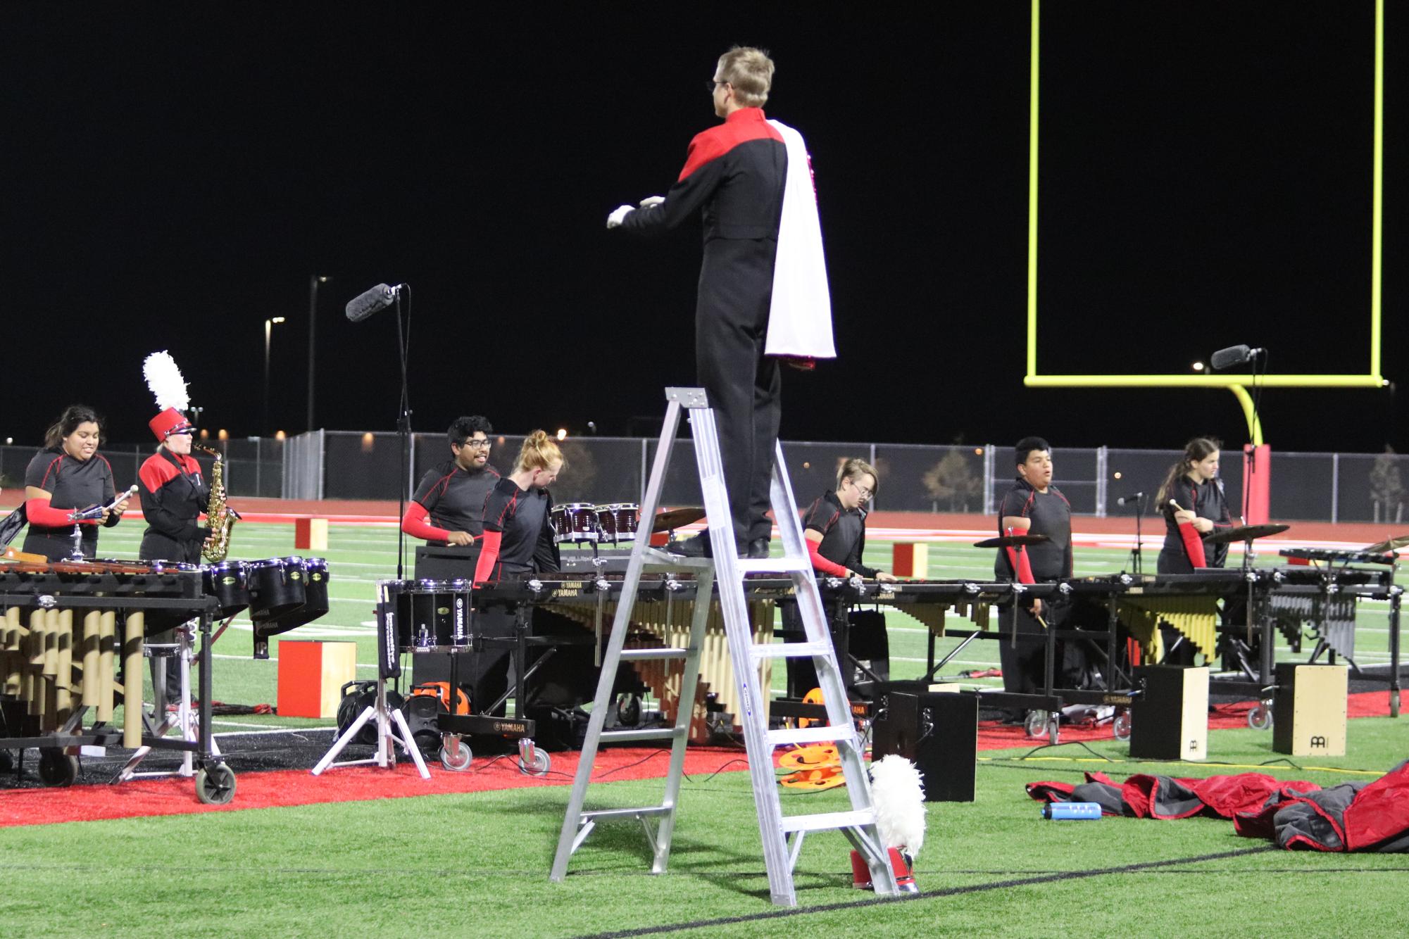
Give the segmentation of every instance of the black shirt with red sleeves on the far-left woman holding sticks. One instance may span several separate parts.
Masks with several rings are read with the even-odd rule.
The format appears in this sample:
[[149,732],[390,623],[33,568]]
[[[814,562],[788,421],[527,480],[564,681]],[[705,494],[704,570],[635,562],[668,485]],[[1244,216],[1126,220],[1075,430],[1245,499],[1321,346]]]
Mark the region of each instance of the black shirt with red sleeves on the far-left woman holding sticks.
[[[113,467],[101,453],[76,460],[59,446],[34,455],[24,470],[24,484],[49,493],[49,501],[39,498],[25,501],[30,532],[24,536],[23,550],[44,555],[49,560],[62,560],[73,550],[73,522],[68,521],[70,511],[107,505],[117,494],[113,486]],[[107,525],[116,525],[117,519],[117,515],[108,515]],[[79,531],[83,532],[83,556],[94,557],[97,522],[79,522]]]

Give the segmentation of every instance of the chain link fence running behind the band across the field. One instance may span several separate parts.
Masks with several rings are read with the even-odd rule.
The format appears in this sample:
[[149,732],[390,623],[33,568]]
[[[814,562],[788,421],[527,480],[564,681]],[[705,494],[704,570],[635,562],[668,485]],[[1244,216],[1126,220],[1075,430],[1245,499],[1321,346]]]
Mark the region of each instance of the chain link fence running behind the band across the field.
[[[521,435],[493,439],[490,463],[513,470]],[[655,438],[578,436],[561,442],[566,469],[554,486],[558,503],[640,503]],[[390,431],[316,431],[289,441],[240,439],[218,443],[225,452],[225,487],[232,497],[395,498],[402,442]],[[118,487],[137,480],[149,445],[107,445]],[[21,489],[35,446],[0,446],[0,487]],[[799,505],[830,489],[841,463],[859,456],[876,467],[881,490],[875,508],[914,512],[986,512],[1013,480],[1007,446],[930,446],[916,443],[785,441],[783,459]],[[414,434],[407,455],[407,494],[420,479],[451,459],[444,434]],[[1053,452],[1055,483],[1082,515],[1119,515],[1143,493],[1146,511],[1179,450],[1060,448]],[[204,472],[210,459],[200,456]],[[1220,469],[1229,505],[1243,500],[1243,460],[1224,450]],[[1402,524],[1409,503],[1409,456],[1398,453],[1284,453],[1272,450],[1271,515],[1301,521]],[[662,490],[665,505],[700,504],[695,452],[688,436],[675,442]],[[1236,510],[1234,510],[1236,511]]]

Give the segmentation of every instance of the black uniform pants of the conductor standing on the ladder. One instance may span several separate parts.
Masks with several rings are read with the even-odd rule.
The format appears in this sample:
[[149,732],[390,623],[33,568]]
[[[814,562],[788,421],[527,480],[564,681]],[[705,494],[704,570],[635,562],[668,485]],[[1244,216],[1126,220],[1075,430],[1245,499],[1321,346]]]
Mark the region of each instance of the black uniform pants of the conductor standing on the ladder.
[[782,420],[782,373],[764,355],[774,296],[771,238],[704,245],[695,310],[695,367],[719,425],[734,538],[766,539],[774,448]]

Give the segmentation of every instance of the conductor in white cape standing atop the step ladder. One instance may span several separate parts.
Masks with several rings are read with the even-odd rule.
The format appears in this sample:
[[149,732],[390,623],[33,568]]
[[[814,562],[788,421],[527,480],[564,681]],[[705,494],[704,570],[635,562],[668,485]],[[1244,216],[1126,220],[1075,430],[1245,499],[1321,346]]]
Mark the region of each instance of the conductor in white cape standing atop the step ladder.
[[[836,356],[807,149],[797,131],[764,117],[772,76],[761,49],[720,56],[709,87],[724,122],[690,141],[666,196],[607,218],[607,228],[651,235],[703,213],[695,365],[719,417],[734,541],[748,557],[768,556],[772,532],[765,512],[782,417],[779,358],[812,367]],[[709,553],[709,542],[683,542],[682,553]]]

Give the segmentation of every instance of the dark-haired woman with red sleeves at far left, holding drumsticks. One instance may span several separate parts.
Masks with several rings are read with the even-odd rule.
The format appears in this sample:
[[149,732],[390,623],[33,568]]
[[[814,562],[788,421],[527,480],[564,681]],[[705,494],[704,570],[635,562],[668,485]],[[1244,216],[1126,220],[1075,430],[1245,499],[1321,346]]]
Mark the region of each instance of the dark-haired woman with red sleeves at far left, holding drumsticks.
[[[113,467],[97,452],[103,438],[103,420],[83,404],[73,404],[44,435],[44,449],[34,455],[24,472],[24,511],[30,531],[23,550],[63,560],[73,553],[73,525],[69,514],[76,510],[107,505],[117,496]],[[101,518],[77,522],[85,557],[97,555],[99,525],[111,528],[127,511],[124,497]]]

